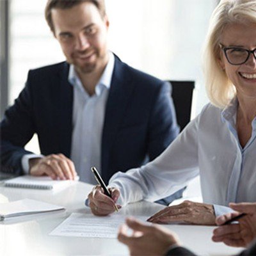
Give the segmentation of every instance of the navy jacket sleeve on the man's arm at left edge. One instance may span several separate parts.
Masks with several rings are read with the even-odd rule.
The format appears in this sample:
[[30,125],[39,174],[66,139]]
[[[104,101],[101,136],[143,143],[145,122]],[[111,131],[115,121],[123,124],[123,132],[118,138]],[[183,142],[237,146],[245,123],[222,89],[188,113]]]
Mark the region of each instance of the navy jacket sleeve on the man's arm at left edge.
[[1,122],[1,165],[13,173],[21,173],[21,159],[31,154],[24,149],[35,133],[33,102],[29,90],[29,79],[13,106],[4,113]]

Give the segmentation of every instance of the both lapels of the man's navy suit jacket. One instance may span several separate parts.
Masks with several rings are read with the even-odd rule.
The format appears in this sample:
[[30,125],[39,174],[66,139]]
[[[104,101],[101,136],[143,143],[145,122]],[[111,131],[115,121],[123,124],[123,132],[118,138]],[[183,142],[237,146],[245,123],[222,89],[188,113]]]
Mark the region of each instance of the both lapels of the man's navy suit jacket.
[[[127,74],[126,65],[115,56],[115,67],[111,79],[111,87],[106,103],[104,126],[102,131],[101,170],[104,179],[108,180],[109,156],[115,141],[115,134],[120,127],[127,104],[132,95],[134,84]],[[69,65],[64,64],[60,72],[59,98],[56,102],[56,124],[58,127],[58,149],[70,157],[72,140],[73,87],[68,82]]]

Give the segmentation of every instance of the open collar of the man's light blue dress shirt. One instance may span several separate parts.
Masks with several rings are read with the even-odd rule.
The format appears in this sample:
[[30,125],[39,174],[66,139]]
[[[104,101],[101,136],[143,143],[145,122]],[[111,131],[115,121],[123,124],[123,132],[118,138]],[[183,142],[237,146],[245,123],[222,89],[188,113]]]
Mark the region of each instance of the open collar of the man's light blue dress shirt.
[[[107,89],[110,88],[111,79],[112,79],[112,75],[113,75],[113,71],[114,71],[114,66],[115,66],[115,57],[114,57],[113,52],[109,51],[108,64],[106,65],[106,68],[104,69],[104,72],[95,87],[95,93],[97,95],[100,94],[103,87],[106,87]],[[70,68],[68,71],[68,81],[70,84],[72,84],[72,86],[78,86],[79,88],[80,87],[83,88],[81,80],[77,76],[76,70],[75,70],[73,64],[70,65]]]

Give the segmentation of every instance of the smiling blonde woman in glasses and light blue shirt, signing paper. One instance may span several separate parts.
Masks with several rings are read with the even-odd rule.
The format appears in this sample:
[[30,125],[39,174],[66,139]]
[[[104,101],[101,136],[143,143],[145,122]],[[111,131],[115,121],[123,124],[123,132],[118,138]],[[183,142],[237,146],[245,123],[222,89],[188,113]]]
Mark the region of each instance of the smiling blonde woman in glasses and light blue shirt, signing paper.
[[211,103],[154,161],[118,172],[112,198],[99,186],[88,195],[93,214],[140,200],[154,201],[200,175],[203,204],[166,207],[148,221],[215,225],[229,202],[256,202],[256,1],[223,0],[212,13],[204,51]]

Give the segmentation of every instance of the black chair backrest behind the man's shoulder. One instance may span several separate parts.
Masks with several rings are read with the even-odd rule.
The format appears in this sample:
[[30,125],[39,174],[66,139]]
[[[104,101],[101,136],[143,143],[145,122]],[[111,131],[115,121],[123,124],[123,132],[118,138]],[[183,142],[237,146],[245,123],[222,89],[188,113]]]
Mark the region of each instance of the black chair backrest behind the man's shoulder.
[[172,99],[180,131],[189,123],[195,81],[168,81],[172,84]]

